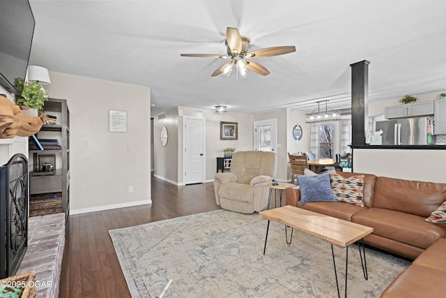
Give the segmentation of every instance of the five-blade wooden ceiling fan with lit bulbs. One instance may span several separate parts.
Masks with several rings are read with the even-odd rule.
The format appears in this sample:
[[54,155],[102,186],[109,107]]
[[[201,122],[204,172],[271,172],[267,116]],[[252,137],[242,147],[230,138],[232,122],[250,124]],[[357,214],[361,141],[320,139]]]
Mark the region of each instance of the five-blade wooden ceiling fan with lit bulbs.
[[217,68],[212,77],[223,74],[226,76],[231,75],[232,68],[235,65],[238,74],[241,77],[247,76],[247,70],[252,70],[254,73],[259,75],[269,75],[270,72],[261,64],[252,61],[251,58],[261,58],[261,57],[272,57],[282,54],[288,54],[295,52],[294,45],[286,45],[282,47],[266,47],[263,49],[248,52],[249,43],[251,40],[246,36],[240,36],[236,28],[227,27],[226,28],[226,55],[219,54],[181,54],[182,57],[202,57],[202,58],[220,58],[220,59],[231,59],[231,61],[226,62],[219,68]]

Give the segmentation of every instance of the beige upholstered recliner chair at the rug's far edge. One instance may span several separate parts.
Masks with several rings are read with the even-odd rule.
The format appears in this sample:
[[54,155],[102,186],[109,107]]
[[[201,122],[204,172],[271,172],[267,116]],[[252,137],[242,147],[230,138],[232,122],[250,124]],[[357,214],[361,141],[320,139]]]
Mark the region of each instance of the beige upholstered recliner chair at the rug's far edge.
[[272,181],[276,154],[266,151],[237,151],[230,172],[217,173],[215,200],[223,209],[245,214],[268,206],[268,182]]

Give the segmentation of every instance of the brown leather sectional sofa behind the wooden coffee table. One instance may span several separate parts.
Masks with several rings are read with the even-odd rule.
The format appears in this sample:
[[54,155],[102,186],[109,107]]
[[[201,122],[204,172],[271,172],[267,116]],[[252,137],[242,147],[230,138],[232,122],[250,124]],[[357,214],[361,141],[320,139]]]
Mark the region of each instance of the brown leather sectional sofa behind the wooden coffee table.
[[444,292],[446,281],[446,223],[424,220],[446,201],[446,184],[364,174],[362,200],[364,207],[346,202],[302,205],[299,188],[286,189],[286,204],[372,227],[374,232],[364,237],[366,244],[412,260],[416,258],[382,297],[439,297],[436,295]]

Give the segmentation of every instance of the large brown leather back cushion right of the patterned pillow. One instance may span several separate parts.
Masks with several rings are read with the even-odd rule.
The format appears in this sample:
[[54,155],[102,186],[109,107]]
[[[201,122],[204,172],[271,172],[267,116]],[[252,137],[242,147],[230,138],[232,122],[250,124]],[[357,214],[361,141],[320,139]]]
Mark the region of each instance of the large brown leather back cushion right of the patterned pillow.
[[446,184],[387,177],[376,179],[373,207],[429,217],[446,201]]

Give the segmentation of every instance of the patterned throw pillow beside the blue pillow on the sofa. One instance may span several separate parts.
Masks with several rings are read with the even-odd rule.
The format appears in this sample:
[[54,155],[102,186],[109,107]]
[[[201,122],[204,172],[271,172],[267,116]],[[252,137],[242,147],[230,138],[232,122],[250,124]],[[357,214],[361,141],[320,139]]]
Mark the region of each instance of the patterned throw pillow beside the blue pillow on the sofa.
[[330,173],[330,177],[332,179],[332,193],[338,201],[364,207],[364,202],[362,202],[364,175],[345,178],[340,174]]

